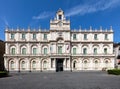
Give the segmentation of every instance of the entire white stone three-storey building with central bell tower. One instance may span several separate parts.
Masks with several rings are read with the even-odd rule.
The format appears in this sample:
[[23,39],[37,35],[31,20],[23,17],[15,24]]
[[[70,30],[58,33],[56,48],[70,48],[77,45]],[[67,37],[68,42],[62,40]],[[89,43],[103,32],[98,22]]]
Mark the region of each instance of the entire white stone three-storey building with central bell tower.
[[70,29],[59,9],[49,30],[5,30],[8,71],[80,71],[114,68],[113,30]]

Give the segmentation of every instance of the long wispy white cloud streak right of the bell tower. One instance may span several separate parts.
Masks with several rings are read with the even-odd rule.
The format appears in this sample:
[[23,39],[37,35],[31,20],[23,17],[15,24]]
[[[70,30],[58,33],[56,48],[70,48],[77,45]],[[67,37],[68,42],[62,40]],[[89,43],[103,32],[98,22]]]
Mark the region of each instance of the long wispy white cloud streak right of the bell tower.
[[66,16],[84,15],[97,11],[104,11],[120,5],[120,0],[86,0],[84,4],[75,6],[67,11]]

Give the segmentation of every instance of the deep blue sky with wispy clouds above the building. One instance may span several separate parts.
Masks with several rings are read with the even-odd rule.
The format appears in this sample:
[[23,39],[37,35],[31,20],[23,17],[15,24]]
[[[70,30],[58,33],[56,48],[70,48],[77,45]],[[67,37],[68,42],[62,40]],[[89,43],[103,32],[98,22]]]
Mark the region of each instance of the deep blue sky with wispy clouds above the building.
[[49,21],[61,8],[71,21],[71,29],[114,30],[114,42],[120,42],[120,0],[0,0],[0,39],[6,26],[49,29]]

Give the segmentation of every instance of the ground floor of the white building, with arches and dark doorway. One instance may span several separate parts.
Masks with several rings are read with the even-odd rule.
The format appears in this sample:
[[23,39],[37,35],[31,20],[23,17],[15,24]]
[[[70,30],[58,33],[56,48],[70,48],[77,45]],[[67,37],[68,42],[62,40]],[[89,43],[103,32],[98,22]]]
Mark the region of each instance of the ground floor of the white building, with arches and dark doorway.
[[114,68],[113,57],[6,57],[8,71],[79,71]]

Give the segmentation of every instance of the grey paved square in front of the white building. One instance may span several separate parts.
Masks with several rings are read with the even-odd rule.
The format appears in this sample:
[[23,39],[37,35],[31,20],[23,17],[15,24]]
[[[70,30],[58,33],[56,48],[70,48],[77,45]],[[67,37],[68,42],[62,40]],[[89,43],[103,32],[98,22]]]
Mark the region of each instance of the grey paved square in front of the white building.
[[106,72],[14,73],[0,89],[120,89],[120,76]]

